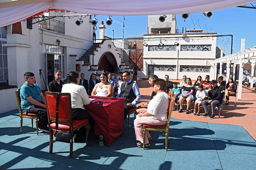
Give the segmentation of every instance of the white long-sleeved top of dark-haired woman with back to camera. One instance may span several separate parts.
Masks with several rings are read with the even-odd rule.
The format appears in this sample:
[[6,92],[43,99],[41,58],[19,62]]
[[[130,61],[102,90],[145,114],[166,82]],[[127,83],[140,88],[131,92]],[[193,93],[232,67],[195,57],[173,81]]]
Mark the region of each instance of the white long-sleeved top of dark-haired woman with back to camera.
[[71,107],[85,109],[83,105],[90,103],[90,99],[86,93],[85,87],[79,86],[75,83],[64,84],[62,87],[62,93],[71,94]]

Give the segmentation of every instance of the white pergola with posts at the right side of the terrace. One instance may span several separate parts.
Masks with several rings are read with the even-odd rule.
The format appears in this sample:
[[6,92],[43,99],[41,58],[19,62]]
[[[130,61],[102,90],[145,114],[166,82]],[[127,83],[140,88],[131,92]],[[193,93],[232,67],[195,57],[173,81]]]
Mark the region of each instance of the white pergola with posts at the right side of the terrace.
[[[234,64],[233,73],[235,73],[235,68],[239,64],[239,78],[238,78],[238,93],[237,99],[241,101],[242,95],[242,78],[243,78],[243,65],[250,59],[251,62],[251,88],[253,88],[253,77],[254,77],[254,70],[255,70],[255,63],[256,63],[256,46],[254,48],[248,48],[248,50],[242,50],[234,54],[230,54],[221,58],[217,58],[211,61],[212,66],[214,66],[215,73],[217,75],[217,64],[220,64],[220,68],[222,67],[223,63],[227,63],[227,76],[226,82],[229,80],[230,75],[230,65],[231,63]],[[221,69],[220,69],[221,75]],[[233,75],[234,77],[235,75]]]

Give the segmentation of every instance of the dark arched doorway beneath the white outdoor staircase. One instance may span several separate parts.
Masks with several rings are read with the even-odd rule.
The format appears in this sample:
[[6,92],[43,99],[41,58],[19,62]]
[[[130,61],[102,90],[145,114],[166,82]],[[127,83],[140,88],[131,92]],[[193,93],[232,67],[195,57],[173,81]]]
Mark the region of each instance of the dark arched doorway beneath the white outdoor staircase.
[[117,71],[117,67],[117,60],[113,53],[105,52],[102,54],[99,60],[98,69],[104,69],[105,72],[115,73]]

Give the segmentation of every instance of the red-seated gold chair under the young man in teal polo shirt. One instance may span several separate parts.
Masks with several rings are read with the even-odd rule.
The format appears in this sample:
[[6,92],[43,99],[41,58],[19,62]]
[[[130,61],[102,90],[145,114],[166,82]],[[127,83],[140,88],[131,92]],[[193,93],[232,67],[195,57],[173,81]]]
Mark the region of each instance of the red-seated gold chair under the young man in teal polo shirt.
[[18,104],[18,108],[19,108],[19,117],[21,119],[21,134],[22,134],[22,118],[25,117],[25,118],[30,118],[31,119],[32,128],[33,128],[33,119],[35,119],[35,126],[37,128],[37,135],[38,135],[38,118],[39,118],[39,115],[36,114],[36,113],[27,113],[26,114],[25,112],[23,112],[21,110],[20,90],[21,90],[21,88],[18,88],[15,91],[15,94],[16,94],[17,104]]

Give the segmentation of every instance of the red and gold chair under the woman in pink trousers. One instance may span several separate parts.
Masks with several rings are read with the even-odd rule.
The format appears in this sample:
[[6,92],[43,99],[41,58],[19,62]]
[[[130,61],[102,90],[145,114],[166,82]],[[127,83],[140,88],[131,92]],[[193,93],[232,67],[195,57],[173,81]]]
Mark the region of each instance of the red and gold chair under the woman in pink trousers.
[[173,91],[170,89],[167,91],[168,94],[171,97],[170,106],[169,106],[169,114],[167,114],[167,122],[164,125],[143,125],[143,149],[145,147],[145,136],[146,136],[146,130],[151,131],[165,131],[165,150],[167,151],[167,142],[168,142],[168,136],[169,136],[169,124],[171,119],[171,113],[173,111],[173,105],[176,98],[176,95],[173,94]]

